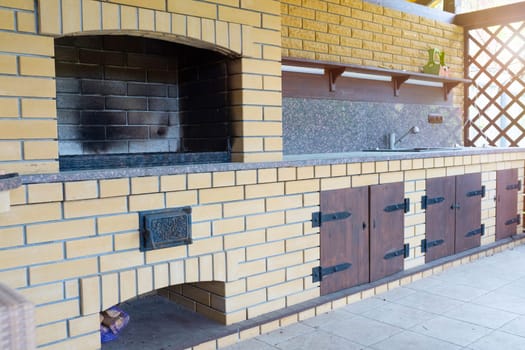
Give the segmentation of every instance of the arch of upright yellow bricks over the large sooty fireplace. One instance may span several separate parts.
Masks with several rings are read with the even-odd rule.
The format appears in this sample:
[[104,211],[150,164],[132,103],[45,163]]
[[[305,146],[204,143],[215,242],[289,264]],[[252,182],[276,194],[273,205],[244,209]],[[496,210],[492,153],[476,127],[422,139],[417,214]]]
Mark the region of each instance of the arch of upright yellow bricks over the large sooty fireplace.
[[40,34],[132,35],[160,39],[231,57],[242,54],[241,26],[224,21],[136,8],[97,0],[40,0]]

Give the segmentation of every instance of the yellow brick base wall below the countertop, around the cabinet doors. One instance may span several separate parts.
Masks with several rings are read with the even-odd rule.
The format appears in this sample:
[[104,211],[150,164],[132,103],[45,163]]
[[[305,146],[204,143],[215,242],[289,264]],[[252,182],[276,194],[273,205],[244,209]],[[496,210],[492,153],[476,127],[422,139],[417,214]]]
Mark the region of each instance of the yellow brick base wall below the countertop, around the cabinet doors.
[[[501,153],[25,184],[0,214],[0,279],[36,304],[43,348],[98,344],[98,311],[155,290],[231,324],[319,296],[311,215],[323,188],[403,182],[409,269],[424,264],[426,178],[482,172],[486,245],[495,240],[495,172],[517,168],[523,181],[524,159]],[[192,207],[194,243],[140,252],[137,211],[170,207],[169,198]]]

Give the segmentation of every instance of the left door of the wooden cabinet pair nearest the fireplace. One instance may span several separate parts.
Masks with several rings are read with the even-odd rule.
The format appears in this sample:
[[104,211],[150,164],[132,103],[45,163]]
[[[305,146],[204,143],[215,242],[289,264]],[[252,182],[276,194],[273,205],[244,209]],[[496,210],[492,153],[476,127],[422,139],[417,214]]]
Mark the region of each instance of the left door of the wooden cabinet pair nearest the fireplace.
[[352,265],[323,276],[321,295],[369,282],[368,188],[321,192],[321,214],[340,212],[350,217],[321,223],[321,268]]

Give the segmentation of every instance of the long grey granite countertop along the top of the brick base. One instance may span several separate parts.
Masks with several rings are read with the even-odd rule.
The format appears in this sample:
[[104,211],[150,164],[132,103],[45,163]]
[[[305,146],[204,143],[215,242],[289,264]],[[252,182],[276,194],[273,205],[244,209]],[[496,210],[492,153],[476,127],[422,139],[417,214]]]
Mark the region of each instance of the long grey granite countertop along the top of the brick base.
[[[145,168],[119,168],[82,171],[62,171],[51,174],[22,175],[23,184],[49,183],[63,181],[83,181],[97,179],[116,179],[124,177],[176,175],[185,173],[203,173],[214,171],[235,171],[265,168],[283,168],[298,166],[330,165],[343,163],[360,163],[383,160],[404,160],[435,157],[453,157],[465,155],[497,154],[523,152],[525,148],[509,147],[445,147],[433,148],[425,151],[392,152],[381,151],[356,151],[345,153],[322,153],[304,155],[285,155],[282,161],[256,162],[256,163],[211,163],[211,164],[183,164],[171,166],[145,167]],[[1,187],[0,187],[1,190]]]

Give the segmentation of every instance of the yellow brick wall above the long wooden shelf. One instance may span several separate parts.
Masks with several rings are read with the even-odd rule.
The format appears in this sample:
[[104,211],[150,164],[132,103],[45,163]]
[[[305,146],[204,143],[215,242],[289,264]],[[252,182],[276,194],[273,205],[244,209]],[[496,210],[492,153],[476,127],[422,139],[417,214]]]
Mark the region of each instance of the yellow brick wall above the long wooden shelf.
[[451,76],[464,76],[462,27],[361,0],[282,0],[281,14],[284,57],[419,72],[438,48]]

